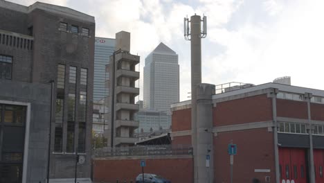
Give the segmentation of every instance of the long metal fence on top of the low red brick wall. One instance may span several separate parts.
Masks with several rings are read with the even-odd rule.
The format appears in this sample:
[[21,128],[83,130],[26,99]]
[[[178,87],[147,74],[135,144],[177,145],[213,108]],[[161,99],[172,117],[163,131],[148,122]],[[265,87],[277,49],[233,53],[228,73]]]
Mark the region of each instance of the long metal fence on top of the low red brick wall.
[[127,156],[161,156],[161,155],[192,155],[190,145],[161,145],[161,146],[129,146],[118,148],[97,148],[93,157],[127,157]]

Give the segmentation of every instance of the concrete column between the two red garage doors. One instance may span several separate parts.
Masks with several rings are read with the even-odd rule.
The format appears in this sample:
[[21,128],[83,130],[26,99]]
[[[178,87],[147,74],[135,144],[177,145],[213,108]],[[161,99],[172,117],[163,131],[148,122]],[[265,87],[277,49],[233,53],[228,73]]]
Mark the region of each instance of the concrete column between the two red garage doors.
[[314,170],[314,149],[313,149],[313,126],[312,126],[312,116],[310,110],[310,99],[312,94],[305,93],[304,98],[307,102],[307,115],[308,115],[308,132],[309,132],[309,178],[310,183],[315,183],[315,170]]

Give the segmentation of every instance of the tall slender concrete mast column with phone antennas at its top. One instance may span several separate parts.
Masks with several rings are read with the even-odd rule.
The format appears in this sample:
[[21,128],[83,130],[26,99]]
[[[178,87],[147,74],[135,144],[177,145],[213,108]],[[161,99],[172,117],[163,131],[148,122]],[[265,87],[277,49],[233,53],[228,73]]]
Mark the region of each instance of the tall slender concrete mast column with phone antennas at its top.
[[194,157],[194,180],[197,182],[197,110],[196,87],[201,83],[201,19],[193,15],[190,19],[191,30],[191,143]]

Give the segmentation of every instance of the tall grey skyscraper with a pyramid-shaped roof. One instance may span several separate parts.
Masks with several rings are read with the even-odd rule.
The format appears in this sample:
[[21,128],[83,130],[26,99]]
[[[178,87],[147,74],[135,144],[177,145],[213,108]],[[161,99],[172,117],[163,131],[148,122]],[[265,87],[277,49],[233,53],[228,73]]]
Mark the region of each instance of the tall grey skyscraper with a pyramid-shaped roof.
[[170,110],[179,102],[178,55],[162,42],[145,58],[143,108]]

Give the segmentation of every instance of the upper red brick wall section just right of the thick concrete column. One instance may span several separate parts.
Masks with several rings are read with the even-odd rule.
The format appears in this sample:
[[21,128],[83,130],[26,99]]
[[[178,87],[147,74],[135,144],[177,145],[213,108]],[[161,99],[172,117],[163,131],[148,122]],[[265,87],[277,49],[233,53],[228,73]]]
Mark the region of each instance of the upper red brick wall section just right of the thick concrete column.
[[268,120],[272,120],[272,102],[266,94],[217,103],[213,109],[214,126]]

